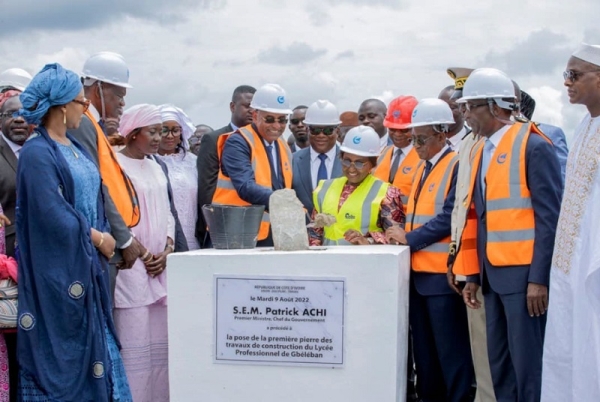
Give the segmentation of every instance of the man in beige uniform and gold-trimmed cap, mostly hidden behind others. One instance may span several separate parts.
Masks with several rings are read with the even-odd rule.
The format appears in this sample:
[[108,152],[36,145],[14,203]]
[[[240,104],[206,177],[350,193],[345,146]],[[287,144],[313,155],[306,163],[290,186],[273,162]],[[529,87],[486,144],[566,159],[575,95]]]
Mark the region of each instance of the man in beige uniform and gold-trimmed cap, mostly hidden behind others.
[[[447,70],[448,75],[454,80],[454,89],[450,94],[450,99],[455,105],[456,100],[462,97],[463,87],[472,71],[471,68],[462,67],[451,67]],[[444,98],[441,99],[445,100]],[[462,115],[461,110],[458,110],[458,112]],[[469,124],[468,121],[467,124]],[[460,138],[459,147],[456,150],[459,153],[459,160],[456,175],[456,200],[452,210],[452,235],[450,253],[448,254],[447,275],[449,286],[459,295],[462,294],[461,289],[464,286],[466,276],[479,272],[476,244],[477,218],[475,209],[467,202],[470,194],[471,149],[478,141],[480,141],[480,137],[469,129],[467,134]],[[479,289],[478,296],[483,305],[481,289]],[[495,402],[496,397],[487,353],[485,309],[465,308],[469,320],[471,355],[475,369],[475,381],[477,382],[475,402]]]

